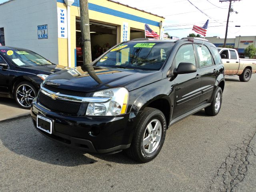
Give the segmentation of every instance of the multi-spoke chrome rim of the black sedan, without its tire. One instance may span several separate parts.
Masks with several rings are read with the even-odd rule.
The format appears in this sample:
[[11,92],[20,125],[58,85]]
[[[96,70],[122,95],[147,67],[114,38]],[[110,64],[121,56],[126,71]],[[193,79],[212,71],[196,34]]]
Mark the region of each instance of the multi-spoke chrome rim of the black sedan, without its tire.
[[35,98],[35,92],[32,87],[27,84],[22,84],[18,87],[16,98],[18,103],[23,107],[30,107],[32,100]]

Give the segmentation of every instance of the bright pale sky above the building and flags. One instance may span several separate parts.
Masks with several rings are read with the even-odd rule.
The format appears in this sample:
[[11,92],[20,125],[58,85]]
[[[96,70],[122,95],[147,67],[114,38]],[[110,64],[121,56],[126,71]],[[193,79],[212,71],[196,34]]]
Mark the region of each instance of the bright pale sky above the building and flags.
[[[219,0],[115,0],[138,9],[164,16],[164,32],[170,36],[186,37],[192,31],[193,25],[203,26],[209,19],[206,36],[225,38],[226,20],[229,2]],[[158,2],[158,4],[156,4]],[[218,6],[218,7],[217,7]],[[230,14],[228,38],[235,36],[256,36],[256,0],[240,0],[232,2],[234,11]],[[235,27],[235,26],[240,27]]]

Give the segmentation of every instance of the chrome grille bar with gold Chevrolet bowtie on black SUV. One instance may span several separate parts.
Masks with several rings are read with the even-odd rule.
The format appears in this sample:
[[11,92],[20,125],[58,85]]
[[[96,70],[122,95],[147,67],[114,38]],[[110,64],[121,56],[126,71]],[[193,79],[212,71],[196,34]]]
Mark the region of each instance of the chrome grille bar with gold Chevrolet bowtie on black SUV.
[[72,101],[72,102],[106,103],[111,100],[111,97],[78,97],[78,96],[72,96],[72,95],[65,95],[65,94],[61,94],[61,93],[52,92],[44,87],[40,88],[40,92],[42,94],[45,94],[45,95],[51,97],[52,99]]

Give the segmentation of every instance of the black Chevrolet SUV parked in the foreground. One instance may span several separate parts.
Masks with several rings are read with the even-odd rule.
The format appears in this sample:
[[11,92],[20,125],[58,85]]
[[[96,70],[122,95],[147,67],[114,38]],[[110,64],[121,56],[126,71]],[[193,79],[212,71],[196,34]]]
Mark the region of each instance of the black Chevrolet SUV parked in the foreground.
[[36,129],[92,153],[126,150],[139,162],[160,152],[168,126],[204,109],[217,115],[224,66],[196,38],[122,42],[88,66],[51,74],[32,102]]

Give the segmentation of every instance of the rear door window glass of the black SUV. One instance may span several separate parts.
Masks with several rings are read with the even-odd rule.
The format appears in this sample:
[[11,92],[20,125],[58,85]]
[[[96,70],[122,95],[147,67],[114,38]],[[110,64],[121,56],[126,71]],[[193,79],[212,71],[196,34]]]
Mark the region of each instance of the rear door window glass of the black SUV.
[[214,63],[212,62],[212,55],[208,50],[208,48],[205,45],[202,46],[202,45],[196,44],[195,46],[196,46],[196,52],[198,54],[199,68],[213,65]]

